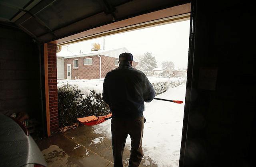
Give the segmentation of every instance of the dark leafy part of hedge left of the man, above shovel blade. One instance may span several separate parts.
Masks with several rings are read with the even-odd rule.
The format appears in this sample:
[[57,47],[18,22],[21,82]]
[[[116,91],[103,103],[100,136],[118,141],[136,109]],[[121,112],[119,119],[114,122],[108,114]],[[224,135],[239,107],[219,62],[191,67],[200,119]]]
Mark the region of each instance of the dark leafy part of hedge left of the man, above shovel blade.
[[62,84],[58,86],[58,113],[60,126],[68,126],[77,122],[76,118],[105,115],[110,110],[103,101],[102,94],[92,90],[85,96],[78,86]]

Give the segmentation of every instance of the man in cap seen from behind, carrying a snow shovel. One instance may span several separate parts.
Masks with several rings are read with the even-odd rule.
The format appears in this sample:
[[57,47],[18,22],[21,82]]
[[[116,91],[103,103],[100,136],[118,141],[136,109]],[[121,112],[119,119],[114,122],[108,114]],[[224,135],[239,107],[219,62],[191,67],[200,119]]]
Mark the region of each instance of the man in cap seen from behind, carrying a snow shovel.
[[112,112],[112,148],[114,167],[123,167],[122,154],[128,134],[132,140],[129,167],[138,167],[143,157],[142,136],[146,119],[144,101],[156,92],[146,75],[134,69],[131,53],[119,55],[119,67],[108,72],[103,84],[103,98]]

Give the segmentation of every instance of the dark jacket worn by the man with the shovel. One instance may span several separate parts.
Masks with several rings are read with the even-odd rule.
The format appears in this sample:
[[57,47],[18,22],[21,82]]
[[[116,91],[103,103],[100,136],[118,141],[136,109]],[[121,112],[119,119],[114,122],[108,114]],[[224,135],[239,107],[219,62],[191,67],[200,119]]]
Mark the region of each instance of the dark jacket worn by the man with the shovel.
[[144,101],[152,101],[155,95],[146,75],[132,68],[129,62],[120,63],[118,68],[108,72],[104,80],[103,98],[113,117],[143,116]]

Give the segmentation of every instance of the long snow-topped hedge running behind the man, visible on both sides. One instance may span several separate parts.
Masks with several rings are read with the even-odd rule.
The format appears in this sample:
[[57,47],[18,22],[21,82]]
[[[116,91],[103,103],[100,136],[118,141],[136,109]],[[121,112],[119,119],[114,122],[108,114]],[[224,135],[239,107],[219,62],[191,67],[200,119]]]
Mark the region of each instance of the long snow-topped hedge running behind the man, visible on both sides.
[[[186,83],[184,78],[148,77],[156,95],[168,88]],[[77,122],[76,118],[110,113],[102,98],[104,79],[58,80],[58,113],[60,126]]]

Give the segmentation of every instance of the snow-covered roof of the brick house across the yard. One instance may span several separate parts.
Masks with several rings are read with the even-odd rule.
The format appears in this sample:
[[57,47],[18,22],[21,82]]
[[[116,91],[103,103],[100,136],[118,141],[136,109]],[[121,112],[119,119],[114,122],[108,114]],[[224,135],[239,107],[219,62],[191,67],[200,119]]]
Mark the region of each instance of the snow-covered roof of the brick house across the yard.
[[[86,53],[83,53],[83,54],[80,54],[80,55],[66,56],[66,57],[62,57],[62,59],[96,56],[96,55],[103,55],[103,56],[118,58],[119,55],[121,53],[124,53],[124,52],[129,52],[129,51],[125,47],[121,47],[121,48],[118,48],[118,49],[98,50],[98,51],[86,52]],[[136,57],[133,57],[133,61],[138,62],[138,59]]]

